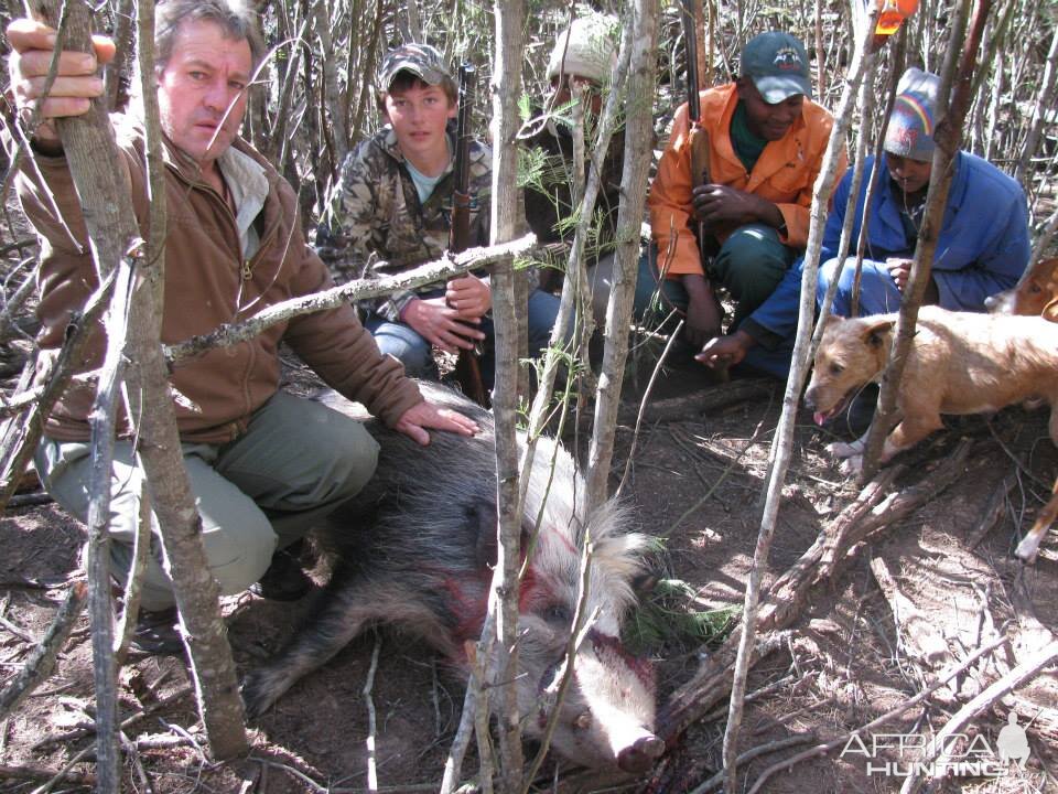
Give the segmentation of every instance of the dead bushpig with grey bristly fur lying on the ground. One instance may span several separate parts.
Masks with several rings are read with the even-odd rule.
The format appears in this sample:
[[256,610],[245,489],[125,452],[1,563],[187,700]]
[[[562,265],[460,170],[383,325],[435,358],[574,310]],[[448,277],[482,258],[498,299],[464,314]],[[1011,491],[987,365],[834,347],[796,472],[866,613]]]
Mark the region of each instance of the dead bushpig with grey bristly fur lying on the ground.
[[[247,677],[242,695],[251,717],[369,624],[398,624],[420,635],[468,675],[464,643],[481,635],[496,560],[493,418],[457,393],[421,386],[431,401],[472,416],[481,432],[472,439],[432,432],[430,446],[420,447],[367,422],[380,446],[378,470],[327,523],[324,543],[338,565],[315,619]],[[356,410],[333,393],[322,399],[343,412]],[[665,749],[654,733],[654,670],[625,651],[619,636],[647,539],[627,530],[630,516],[617,502],[589,514],[584,493],[570,454],[540,439],[522,515],[522,552],[530,561],[519,593],[519,710],[525,733],[540,737],[548,720],[541,696],[569,643],[581,549],[590,538],[586,614],[597,616],[576,654],[552,747],[581,765],[641,772]]]

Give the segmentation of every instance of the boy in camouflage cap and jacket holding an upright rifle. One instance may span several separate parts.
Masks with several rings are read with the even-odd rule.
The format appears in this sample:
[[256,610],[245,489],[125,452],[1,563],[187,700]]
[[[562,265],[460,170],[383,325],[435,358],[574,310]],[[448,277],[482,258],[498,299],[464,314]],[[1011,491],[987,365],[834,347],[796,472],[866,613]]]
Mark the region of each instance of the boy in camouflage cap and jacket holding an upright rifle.
[[[403,44],[384,58],[376,81],[386,126],[342,165],[317,232],[321,255],[350,268],[353,278],[401,273],[441,258],[449,245],[454,187],[457,88],[444,60],[428,44]],[[488,244],[492,152],[469,147],[471,245]],[[435,377],[432,348],[449,353],[493,340],[492,290],[473,273],[360,303],[364,325],[382,353],[415,377]],[[559,299],[529,297],[529,352],[550,340]],[[490,355],[483,377],[490,386]]]

